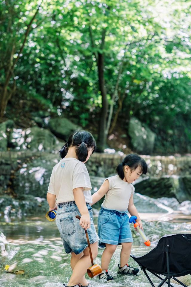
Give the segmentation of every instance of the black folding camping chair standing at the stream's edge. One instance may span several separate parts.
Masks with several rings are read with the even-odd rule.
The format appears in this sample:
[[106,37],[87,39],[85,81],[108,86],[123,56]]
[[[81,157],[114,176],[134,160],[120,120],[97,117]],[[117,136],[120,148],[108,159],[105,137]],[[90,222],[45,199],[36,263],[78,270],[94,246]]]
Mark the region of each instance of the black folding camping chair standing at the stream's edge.
[[[138,263],[147,276],[150,284],[155,287],[147,271],[161,279],[157,287],[164,283],[170,284],[172,278],[181,286],[188,287],[176,277],[191,275],[191,234],[170,234],[161,237],[158,244],[149,253],[141,256],[131,257]],[[159,275],[165,276],[162,278]],[[172,286],[173,287],[173,286]]]

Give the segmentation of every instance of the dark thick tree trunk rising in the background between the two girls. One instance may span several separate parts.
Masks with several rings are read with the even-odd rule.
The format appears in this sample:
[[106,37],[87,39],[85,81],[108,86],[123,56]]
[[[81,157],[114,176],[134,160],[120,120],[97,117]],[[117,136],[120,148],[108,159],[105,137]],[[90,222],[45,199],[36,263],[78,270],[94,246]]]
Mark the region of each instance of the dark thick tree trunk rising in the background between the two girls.
[[98,142],[97,142],[97,150],[98,152],[103,152],[106,146],[107,141],[107,109],[108,109],[108,101],[107,101],[107,93],[105,88],[105,80],[104,80],[104,54],[98,53],[98,79],[99,79],[99,90],[101,91],[102,98],[102,108],[99,122],[99,131],[98,131]]

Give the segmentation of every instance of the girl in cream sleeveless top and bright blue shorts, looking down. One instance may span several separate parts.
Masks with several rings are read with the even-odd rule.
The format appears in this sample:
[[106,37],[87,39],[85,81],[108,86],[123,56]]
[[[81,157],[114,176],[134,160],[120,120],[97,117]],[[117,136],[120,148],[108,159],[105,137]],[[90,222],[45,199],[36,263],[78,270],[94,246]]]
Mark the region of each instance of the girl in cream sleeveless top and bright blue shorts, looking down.
[[147,164],[140,156],[130,154],[118,165],[117,173],[118,175],[107,178],[92,196],[92,204],[94,204],[105,195],[98,216],[98,236],[100,238],[98,244],[100,247],[105,247],[101,257],[103,273],[99,275],[99,279],[105,281],[113,280],[113,277],[108,274],[108,267],[117,245],[120,244],[122,248],[118,273],[135,275],[139,271],[138,268],[128,265],[133,238],[127,210],[130,215],[137,216],[136,221],[142,228],[141,219],[133,204],[135,187],[132,183],[142,173],[147,173]]

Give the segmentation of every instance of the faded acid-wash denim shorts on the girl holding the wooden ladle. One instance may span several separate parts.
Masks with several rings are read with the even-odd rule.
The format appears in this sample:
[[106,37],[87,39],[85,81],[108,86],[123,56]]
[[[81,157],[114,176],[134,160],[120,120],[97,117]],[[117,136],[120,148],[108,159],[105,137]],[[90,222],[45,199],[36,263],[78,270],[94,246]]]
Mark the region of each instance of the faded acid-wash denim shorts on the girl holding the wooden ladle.
[[[90,244],[92,244],[97,242],[99,237],[93,223],[92,207],[89,203],[86,203],[86,205],[91,219],[91,226],[87,229],[87,233]],[[88,246],[85,230],[80,226],[80,221],[76,218],[76,215],[81,216],[75,201],[58,204],[56,225],[66,253],[73,251],[75,254],[79,254]]]

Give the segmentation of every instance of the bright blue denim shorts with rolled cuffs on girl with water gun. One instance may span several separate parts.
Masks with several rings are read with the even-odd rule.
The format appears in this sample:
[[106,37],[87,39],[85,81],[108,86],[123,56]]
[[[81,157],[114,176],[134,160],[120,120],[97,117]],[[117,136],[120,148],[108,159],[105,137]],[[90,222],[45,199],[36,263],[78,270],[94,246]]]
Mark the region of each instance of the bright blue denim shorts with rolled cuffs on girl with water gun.
[[105,243],[120,245],[133,242],[127,212],[101,207],[98,216],[98,236],[99,247],[105,247]]

